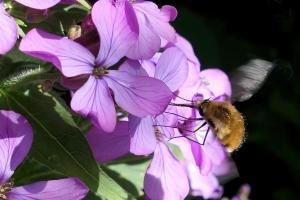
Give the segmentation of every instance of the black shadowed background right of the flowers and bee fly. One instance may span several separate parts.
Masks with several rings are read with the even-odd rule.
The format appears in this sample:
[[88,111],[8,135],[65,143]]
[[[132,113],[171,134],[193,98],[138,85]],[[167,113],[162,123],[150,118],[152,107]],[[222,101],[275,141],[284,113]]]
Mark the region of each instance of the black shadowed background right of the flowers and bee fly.
[[178,9],[173,25],[188,38],[201,68],[230,73],[251,58],[275,63],[263,88],[236,104],[247,139],[233,154],[240,177],[225,196],[249,183],[250,199],[300,199],[299,10],[286,0],[156,1]]

